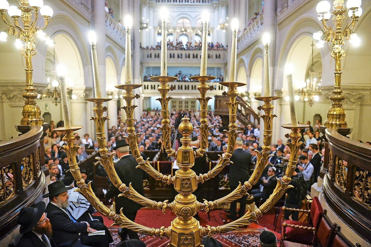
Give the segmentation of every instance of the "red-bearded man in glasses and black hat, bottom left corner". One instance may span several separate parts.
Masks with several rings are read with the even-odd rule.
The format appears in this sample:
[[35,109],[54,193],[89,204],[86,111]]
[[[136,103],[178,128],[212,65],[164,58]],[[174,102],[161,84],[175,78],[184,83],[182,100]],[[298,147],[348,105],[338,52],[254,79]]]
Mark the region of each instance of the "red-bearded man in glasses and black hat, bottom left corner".
[[46,217],[45,202],[40,201],[35,207],[24,207],[20,210],[17,223],[19,233],[23,234],[17,247],[56,247],[52,236],[52,225]]

